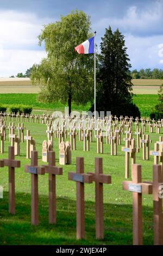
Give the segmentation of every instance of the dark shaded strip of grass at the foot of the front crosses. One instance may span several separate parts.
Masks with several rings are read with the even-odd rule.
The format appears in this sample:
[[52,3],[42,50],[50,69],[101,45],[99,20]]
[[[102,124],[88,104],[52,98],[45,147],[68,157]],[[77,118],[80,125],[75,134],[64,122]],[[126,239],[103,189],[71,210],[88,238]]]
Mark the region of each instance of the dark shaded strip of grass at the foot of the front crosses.
[[[153,209],[143,207],[144,244],[153,243]],[[57,224],[48,224],[48,198],[39,196],[38,226],[30,224],[30,194],[16,193],[16,214],[8,214],[8,193],[0,199],[1,245],[131,245],[132,206],[104,204],[105,239],[95,238],[95,203],[85,202],[85,240],[76,240],[76,201],[57,198]]]

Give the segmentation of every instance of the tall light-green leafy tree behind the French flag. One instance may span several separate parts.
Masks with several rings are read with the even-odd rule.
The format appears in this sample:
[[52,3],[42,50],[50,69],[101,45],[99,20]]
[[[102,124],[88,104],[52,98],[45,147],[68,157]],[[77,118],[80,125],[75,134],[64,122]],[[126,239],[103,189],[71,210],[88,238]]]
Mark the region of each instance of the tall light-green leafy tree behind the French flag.
[[74,51],[92,36],[90,25],[90,17],[76,10],[43,28],[39,44],[45,43],[47,58],[33,66],[31,76],[41,86],[39,99],[68,101],[70,112],[72,100],[84,104],[93,99],[93,56]]

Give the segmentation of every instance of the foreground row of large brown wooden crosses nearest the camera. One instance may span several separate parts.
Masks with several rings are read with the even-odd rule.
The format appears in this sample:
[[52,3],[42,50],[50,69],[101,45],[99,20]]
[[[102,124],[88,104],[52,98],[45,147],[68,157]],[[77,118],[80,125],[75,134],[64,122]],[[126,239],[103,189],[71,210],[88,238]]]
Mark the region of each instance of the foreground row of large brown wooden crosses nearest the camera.
[[[9,167],[9,213],[15,214],[15,168],[20,161],[14,159],[14,147],[9,147],[9,159],[0,160],[0,166]],[[24,170],[31,174],[31,221],[39,224],[38,175],[49,175],[49,223],[56,223],[56,180],[55,175],[62,175],[62,168],[55,166],[54,151],[48,152],[48,165],[38,166],[37,151],[32,151],[30,166]],[[132,181],[123,181],[123,190],[133,192],[133,244],[142,245],[142,194],[153,194],[154,202],[154,244],[163,245],[162,237],[162,169],[158,164],[153,166],[153,182],[142,182],[141,166],[133,164]],[[96,198],[96,239],[104,238],[103,218],[103,184],[111,184],[111,176],[103,174],[102,158],[95,158],[95,173],[84,173],[84,159],[77,157],[76,173],[68,173],[68,179],[77,182],[77,239],[84,239],[84,183],[95,181]]]

